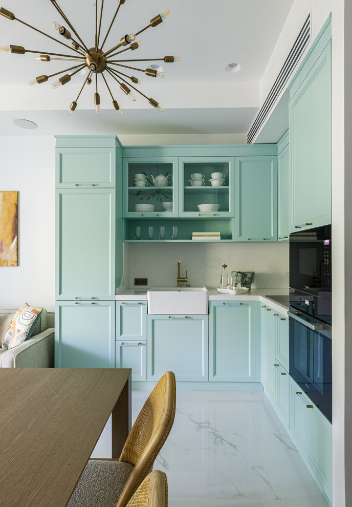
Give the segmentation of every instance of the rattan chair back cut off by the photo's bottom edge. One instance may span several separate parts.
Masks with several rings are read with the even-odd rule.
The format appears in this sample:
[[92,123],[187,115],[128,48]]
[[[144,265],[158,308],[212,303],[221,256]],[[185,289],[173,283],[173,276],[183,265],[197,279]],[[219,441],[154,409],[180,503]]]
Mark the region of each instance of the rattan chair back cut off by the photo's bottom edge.
[[167,507],[167,479],[164,472],[150,472],[126,507]]

